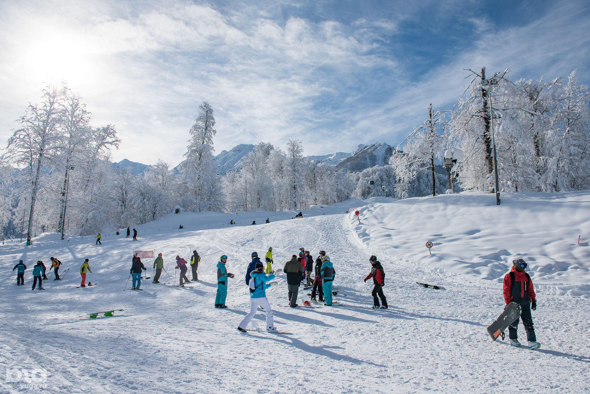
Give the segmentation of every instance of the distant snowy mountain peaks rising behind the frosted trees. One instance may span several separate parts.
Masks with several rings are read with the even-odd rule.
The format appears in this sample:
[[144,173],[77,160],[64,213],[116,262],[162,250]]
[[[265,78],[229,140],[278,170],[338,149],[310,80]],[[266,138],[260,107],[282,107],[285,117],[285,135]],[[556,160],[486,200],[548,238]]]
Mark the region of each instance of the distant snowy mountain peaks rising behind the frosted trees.
[[[242,158],[254,151],[252,144],[240,144],[234,146],[230,151],[221,151],[220,154],[213,158],[213,165],[217,168],[219,175],[225,175],[228,171],[239,168]],[[366,168],[375,167],[375,165],[387,165],[391,157],[393,148],[385,142],[376,142],[371,145],[360,144],[356,151],[336,152],[328,155],[308,156],[310,160],[322,162],[335,166],[342,171],[362,171]],[[132,174],[142,174],[149,170],[150,166],[141,164],[127,159],[113,163],[113,167],[129,168]],[[175,174],[179,173],[176,166],[172,170]]]

